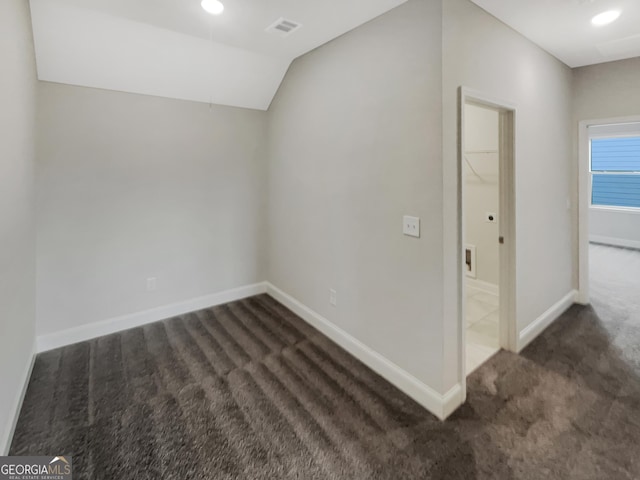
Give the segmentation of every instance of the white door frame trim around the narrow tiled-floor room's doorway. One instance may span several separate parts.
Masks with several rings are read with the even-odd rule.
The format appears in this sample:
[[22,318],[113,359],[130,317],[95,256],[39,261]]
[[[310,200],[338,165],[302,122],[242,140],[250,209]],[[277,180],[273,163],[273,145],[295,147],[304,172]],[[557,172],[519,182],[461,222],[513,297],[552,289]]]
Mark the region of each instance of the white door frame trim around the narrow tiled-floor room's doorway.
[[[463,155],[464,155],[464,106],[476,104],[493,108],[499,112],[500,122],[500,231],[499,235],[505,243],[500,246],[500,346],[505,350],[517,351],[518,331],[516,321],[516,191],[515,191],[515,153],[516,153],[516,106],[515,104],[496,98],[476,90],[460,87],[458,98],[458,159],[457,159],[457,194],[458,218],[456,223],[458,241],[458,351],[459,351],[459,383],[462,386],[463,401],[467,395],[466,375],[466,322],[465,322],[465,286],[462,265],[464,225],[463,219]],[[496,238],[496,241],[498,239]]]

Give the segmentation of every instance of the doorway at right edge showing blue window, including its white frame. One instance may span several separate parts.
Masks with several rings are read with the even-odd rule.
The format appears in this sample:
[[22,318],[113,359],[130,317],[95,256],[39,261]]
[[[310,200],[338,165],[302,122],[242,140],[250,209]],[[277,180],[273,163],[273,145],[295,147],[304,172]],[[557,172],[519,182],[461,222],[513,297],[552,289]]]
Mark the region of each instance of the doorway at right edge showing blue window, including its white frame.
[[582,121],[578,141],[578,301],[589,304],[592,283],[607,297],[640,256],[640,116]]

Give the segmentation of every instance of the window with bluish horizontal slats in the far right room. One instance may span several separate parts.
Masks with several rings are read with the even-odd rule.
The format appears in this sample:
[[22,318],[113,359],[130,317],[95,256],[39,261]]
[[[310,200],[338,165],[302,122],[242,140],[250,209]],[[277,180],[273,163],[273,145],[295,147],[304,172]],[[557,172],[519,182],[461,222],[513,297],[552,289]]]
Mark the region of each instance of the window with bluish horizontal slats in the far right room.
[[640,208],[640,137],[591,139],[591,204]]

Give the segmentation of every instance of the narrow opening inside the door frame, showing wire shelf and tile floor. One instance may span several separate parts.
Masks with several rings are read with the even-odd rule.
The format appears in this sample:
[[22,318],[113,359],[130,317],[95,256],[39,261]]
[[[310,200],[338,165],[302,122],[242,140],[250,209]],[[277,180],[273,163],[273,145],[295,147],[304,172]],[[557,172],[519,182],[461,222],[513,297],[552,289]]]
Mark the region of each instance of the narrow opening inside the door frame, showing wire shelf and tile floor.
[[499,111],[466,103],[462,162],[466,372],[500,349]]

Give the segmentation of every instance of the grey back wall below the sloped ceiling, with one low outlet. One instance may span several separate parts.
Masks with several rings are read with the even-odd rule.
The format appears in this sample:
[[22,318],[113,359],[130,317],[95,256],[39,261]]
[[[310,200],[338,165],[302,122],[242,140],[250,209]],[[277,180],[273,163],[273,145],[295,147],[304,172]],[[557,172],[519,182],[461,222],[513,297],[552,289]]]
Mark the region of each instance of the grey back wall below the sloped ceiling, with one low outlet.
[[40,83],[38,335],[264,280],[265,120]]

